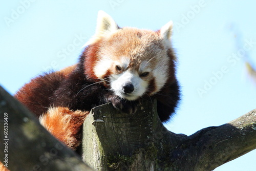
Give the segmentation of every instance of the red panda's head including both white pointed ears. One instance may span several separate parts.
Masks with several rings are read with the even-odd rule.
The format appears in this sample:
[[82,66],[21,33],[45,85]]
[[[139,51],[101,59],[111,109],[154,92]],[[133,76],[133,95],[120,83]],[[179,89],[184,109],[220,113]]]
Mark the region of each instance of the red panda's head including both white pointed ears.
[[172,22],[159,31],[119,28],[99,12],[94,37],[89,40],[86,74],[102,80],[120,98],[136,100],[159,92],[175,71],[170,46]]

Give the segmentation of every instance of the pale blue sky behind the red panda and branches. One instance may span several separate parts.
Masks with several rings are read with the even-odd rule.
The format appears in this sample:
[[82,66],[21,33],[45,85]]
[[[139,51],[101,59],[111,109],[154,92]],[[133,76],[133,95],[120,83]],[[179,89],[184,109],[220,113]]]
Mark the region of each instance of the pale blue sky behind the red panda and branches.
[[[256,64],[255,1],[2,1],[0,84],[14,94],[36,75],[78,61],[94,34],[97,12],[120,27],[158,30],[173,20],[182,100],[165,124],[191,135],[256,108],[256,84],[245,61]],[[237,56],[237,57],[234,57]],[[215,170],[255,170],[256,151]]]

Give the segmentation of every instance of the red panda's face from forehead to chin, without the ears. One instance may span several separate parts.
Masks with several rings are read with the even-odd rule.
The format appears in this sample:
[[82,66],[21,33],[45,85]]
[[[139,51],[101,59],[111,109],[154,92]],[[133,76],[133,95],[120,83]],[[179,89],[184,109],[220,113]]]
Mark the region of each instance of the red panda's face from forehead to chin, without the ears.
[[123,28],[102,41],[94,73],[120,98],[136,100],[164,86],[169,66],[164,40],[157,33]]

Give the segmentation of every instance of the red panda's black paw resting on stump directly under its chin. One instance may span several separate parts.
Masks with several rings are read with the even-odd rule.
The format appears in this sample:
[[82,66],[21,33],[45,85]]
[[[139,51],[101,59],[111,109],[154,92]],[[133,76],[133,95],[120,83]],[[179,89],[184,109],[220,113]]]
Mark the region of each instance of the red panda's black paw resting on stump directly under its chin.
[[138,110],[138,105],[141,104],[140,100],[129,101],[120,98],[112,98],[111,103],[116,109],[126,114],[135,114]]

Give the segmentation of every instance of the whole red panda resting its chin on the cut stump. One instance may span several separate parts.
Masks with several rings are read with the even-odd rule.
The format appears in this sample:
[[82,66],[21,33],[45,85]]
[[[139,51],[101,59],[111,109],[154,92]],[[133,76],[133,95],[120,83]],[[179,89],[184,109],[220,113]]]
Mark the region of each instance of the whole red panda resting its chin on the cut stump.
[[88,111],[100,104],[111,102],[132,114],[141,100],[155,98],[159,118],[167,121],[180,99],[172,27],[169,22],[158,31],[120,28],[100,11],[78,63],[35,77],[15,97],[72,149]]

